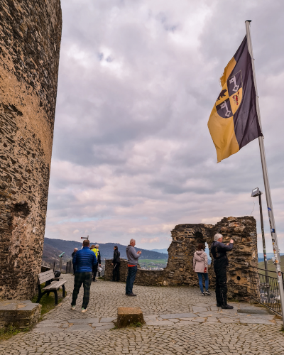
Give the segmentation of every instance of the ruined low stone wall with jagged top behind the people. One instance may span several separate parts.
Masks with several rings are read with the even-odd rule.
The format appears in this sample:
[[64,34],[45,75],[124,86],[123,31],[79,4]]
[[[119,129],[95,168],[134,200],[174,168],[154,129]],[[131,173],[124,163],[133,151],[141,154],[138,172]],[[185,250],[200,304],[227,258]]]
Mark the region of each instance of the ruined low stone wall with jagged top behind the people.
[[[172,231],[173,241],[168,249],[168,265],[163,271],[138,270],[136,285],[190,285],[198,287],[193,270],[193,256],[199,243],[211,246],[214,234],[221,233],[224,243],[234,239],[234,249],[228,252],[228,296],[249,300],[249,271],[258,267],[256,220],[253,217],[223,218],[212,224],[179,224]],[[106,278],[112,272],[111,261],[106,262]],[[210,288],[214,288],[213,264],[208,268]],[[126,280],[127,263],[124,262],[121,281]],[[108,279],[108,278],[107,278]]]

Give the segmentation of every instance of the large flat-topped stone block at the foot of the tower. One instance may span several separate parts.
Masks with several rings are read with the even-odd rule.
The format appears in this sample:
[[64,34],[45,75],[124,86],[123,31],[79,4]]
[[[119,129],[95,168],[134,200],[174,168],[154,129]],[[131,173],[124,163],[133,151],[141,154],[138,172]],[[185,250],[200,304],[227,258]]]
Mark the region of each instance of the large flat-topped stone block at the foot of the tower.
[[31,301],[8,300],[0,302],[0,323],[19,329],[32,328],[39,320],[41,305]]

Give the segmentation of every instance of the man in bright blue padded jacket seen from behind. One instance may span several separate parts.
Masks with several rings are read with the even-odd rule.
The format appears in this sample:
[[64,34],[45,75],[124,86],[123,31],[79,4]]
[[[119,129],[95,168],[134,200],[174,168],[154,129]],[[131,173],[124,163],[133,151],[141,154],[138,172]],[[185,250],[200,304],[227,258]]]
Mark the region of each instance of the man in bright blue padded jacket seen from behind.
[[89,290],[92,284],[92,268],[97,264],[97,258],[95,253],[89,249],[89,241],[83,241],[82,249],[75,253],[73,258],[73,265],[76,266],[74,290],[72,294],[71,310],[75,310],[76,300],[78,293],[83,284],[84,297],[82,304],[82,313],[87,312],[87,306],[89,303]]

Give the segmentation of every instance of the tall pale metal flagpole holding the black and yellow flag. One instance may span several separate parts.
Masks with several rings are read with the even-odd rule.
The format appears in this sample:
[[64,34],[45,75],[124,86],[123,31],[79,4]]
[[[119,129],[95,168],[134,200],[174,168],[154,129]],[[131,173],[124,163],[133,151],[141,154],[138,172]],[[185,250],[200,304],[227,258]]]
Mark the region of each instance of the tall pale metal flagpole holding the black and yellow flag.
[[[251,54],[251,64],[253,67],[253,81],[254,86],[256,87],[256,72],[254,70],[254,62],[253,62],[253,48],[251,44],[251,29],[250,29],[250,20],[246,21],[246,38],[248,40],[248,48],[249,53]],[[261,110],[259,109],[258,103],[258,92],[256,87],[256,111],[258,114],[258,121],[259,125],[261,126]],[[262,128],[261,128],[262,131]],[[271,239],[273,244],[273,253],[275,258],[275,267],[276,267],[276,275],[278,278],[278,285],[279,285],[279,293],[280,293],[280,303],[281,303],[281,310],[282,310],[282,318],[283,318],[283,326],[284,326],[284,289],[283,289],[283,278],[280,268],[280,250],[278,248],[278,239],[275,229],[275,221],[274,221],[274,214],[273,214],[273,207],[272,207],[272,200],[271,200],[271,189],[269,187],[269,180],[268,180],[268,171],[266,166],[266,153],[264,151],[264,143],[263,143],[263,136],[258,137],[259,149],[261,151],[261,165],[262,165],[262,172],[263,172],[263,182],[264,187],[266,189],[266,203],[268,208],[268,218],[269,224],[271,227]]]

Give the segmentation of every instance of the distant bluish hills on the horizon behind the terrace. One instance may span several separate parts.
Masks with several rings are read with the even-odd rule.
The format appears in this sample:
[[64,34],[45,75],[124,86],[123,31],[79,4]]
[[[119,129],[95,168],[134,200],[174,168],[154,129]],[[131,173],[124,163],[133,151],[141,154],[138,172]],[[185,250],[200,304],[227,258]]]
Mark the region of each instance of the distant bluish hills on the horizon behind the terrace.
[[[126,246],[117,243],[97,243],[96,241],[90,241],[90,244],[99,244],[99,251],[101,253],[102,259],[110,259],[114,256],[114,246],[118,246],[121,258],[126,258]],[[58,255],[65,251],[64,258],[71,258],[72,252],[75,248],[81,249],[82,242],[79,241],[65,241],[62,239],[50,239],[45,238],[43,244],[43,260],[48,261],[48,259],[58,260]],[[156,251],[136,248],[136,250],[141,250],[142,259],[151,260],[167,260],[168,255],[164,253],[158,253]],[[50,260],[51,261],[51,260]]]

